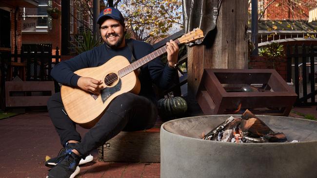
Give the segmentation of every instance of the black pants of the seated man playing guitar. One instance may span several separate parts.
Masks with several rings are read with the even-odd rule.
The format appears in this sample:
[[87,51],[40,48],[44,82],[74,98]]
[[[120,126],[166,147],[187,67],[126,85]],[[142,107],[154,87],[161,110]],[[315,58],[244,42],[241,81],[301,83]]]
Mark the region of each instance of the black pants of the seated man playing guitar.
[[60,93],[50,98],[47,108],[61,144],[65,146],[70,140],[79,141],[75,149],[81,155],[88,154],[122,130],[137,131],[153,127],[158,115],[157,107],[148,98],[123,93],[110,103],[99,122],[81,140],[76,124],[62,111],[64,106]]

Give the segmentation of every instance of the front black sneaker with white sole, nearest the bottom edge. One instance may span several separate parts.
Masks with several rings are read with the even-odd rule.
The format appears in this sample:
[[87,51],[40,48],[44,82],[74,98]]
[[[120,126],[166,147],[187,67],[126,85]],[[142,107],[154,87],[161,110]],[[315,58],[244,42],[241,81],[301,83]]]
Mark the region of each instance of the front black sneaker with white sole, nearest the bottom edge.
[[81,157],[74,152],[67,152],[62,160],[56,164],[49,172],[46,178],[75,178],[79,174],[79,161]]

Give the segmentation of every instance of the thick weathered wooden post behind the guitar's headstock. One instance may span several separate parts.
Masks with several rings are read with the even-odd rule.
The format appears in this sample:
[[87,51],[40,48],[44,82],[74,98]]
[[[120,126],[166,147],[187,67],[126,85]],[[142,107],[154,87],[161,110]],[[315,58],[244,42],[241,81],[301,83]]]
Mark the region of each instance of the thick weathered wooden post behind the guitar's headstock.
[[188,47],[188,92],[196,96],[204,69],[247,69],[247,26],[248,0],[222,0],[214,43]]

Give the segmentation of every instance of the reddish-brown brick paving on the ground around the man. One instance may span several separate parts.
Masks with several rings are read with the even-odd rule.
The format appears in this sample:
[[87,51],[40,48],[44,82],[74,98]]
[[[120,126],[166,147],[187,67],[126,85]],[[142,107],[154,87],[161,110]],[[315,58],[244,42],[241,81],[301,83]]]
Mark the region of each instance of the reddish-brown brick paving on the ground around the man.
[[[297,112],[317,116],[316,106],[294,108]],[[290,117],[299,117],[292,112]],[[81,134],[86,129],[78,127]],[[45,156],[58,154],[59,137],[47,112],[20,114],[0,120],[0,178],[45,178],[49,168]],[[148,162],[100,162],[94,160],[80,166],[76,178],[159,178],[160,164]]]

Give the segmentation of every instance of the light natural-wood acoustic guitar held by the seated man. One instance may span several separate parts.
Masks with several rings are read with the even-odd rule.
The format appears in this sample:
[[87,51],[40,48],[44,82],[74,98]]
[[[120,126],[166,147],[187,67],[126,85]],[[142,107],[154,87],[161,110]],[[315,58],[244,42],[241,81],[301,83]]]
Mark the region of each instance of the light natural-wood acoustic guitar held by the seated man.
[[[197,28],[176,39],[175,42],[178,44],[189,43],[203,37],[203,32]],[[103,89],[100,90],[99,95],[95,95],[79,88],[61,86],[61,99],[67,115],[84,128],[93,127],[110,102],[119,94],[124,92],[139,94],[141,86],[134,71],[166,53],[166,48],[167,46],[163,46],[131,64],[125,57],[118,55],[101,66],[75,71],[74,73],[79,76],[101,79]]]

